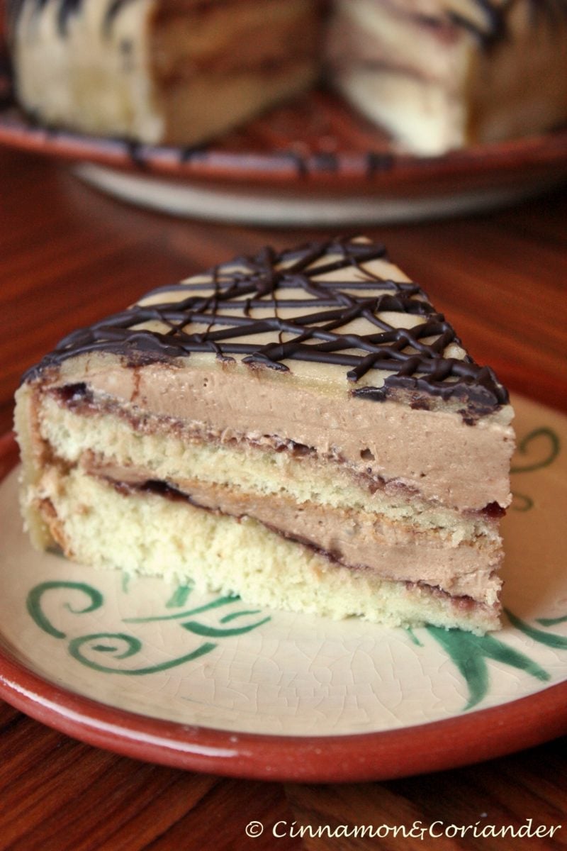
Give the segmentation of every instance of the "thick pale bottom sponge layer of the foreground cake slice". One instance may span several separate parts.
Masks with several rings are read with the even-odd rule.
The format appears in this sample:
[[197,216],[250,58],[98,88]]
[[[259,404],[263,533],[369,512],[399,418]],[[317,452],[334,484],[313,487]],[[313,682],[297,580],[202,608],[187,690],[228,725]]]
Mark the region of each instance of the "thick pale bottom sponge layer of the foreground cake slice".
[[46,522],[66,555],[79,562],[101,568],[120,563],[128,573],[160,574],[209,591],[238,588],[243,600],[256,605],[335,619],[356,615],[388,626],[431,623],[478,634],[498,627],[497,604],[345,568],[315,546],[288,540],[252,518],[205,511],[150,491],[123,494],[79,471],[60,478],[52,473],[43,496]]

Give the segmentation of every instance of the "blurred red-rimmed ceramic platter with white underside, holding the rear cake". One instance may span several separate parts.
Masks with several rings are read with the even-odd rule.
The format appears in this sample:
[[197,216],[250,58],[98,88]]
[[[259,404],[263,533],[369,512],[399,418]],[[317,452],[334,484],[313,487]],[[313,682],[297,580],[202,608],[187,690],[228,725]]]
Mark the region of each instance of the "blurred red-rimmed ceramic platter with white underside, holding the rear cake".
[[130,203],[206,220],[418,220],[512,203],[567,178],[565,129],[412,157],[338,97],[315,91],[210,146],[150,147],[38,127],[14,106],[9,83],[0,71],[0,143],[76,161],[83,180]]

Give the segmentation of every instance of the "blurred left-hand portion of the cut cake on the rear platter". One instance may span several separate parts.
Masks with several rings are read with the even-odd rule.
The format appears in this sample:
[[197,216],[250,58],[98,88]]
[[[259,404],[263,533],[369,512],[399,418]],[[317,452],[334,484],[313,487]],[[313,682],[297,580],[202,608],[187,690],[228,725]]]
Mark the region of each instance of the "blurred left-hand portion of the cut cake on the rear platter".
[[319,0],[9,0],[15,89],[44,124],[191,146],[315,79]]

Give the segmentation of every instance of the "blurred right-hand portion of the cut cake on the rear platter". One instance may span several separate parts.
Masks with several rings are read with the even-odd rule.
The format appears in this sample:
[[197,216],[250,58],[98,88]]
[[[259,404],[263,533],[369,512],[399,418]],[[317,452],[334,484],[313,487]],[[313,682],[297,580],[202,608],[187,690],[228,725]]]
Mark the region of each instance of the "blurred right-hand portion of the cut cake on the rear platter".
[[332,75],[407,151],[437,155],[567,121],[565,0],[337,0]]

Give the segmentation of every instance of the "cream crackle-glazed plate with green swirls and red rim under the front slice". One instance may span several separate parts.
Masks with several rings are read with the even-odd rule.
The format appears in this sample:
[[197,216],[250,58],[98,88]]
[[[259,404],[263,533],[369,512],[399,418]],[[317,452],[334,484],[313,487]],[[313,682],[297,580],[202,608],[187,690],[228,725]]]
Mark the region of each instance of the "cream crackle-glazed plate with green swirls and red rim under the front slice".
[[378,780],[567,731],[567,418],[514,400],[506,619],[474,637],[258,610],[31,549],[0,460],[0,694],[111,750],[217,774]]

